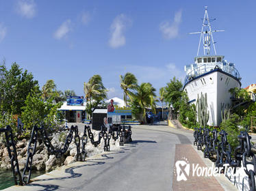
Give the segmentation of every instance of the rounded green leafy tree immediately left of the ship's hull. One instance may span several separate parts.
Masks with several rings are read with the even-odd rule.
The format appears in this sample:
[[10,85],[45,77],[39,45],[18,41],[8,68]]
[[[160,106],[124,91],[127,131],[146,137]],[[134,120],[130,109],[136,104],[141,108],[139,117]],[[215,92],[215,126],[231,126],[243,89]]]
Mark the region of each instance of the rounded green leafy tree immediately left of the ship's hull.
[[168,102],[169,106],[172,106],[175,113],[179,111],[183,85],[180,80],[173,77],[165,87],[164,100]]

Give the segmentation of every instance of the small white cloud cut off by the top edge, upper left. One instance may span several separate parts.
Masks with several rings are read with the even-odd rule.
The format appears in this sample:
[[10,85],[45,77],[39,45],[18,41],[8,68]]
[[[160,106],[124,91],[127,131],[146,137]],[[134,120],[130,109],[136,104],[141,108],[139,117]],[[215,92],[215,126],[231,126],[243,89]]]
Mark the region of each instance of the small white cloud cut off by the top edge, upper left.
[[34,0],[18,0],[16,12],[26,18],[33,18],[36,15],[36,3]]

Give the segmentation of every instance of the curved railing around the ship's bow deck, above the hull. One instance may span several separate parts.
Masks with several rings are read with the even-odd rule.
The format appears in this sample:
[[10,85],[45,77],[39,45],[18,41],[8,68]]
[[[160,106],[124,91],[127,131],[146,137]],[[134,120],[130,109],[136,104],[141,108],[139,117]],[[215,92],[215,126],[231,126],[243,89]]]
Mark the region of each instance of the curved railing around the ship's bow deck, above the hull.
[[192,80],[196,76],[201,76],[202,74],[205,74],[207,72],[210,72],[212,70],[222,70],[223,72],[227,72],[228,74],[231,74],[235,78],[238,78],[240,80],[240,74],[238,70],[233,66],[229,65],[229,63],[206,63],[203,65],[199,65],[198,67],[194,68],[188,74],[185,76],[184,85],[188,83],[188,81]]

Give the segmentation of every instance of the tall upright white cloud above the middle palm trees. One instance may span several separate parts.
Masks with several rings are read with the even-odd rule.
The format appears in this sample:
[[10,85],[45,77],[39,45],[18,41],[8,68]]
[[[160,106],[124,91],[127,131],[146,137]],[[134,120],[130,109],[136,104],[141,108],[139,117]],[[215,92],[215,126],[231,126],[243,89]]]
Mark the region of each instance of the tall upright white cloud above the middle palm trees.
[[110,26],[110,47],[118,48],[125,45],[125,29],[131,24],[131,20],[125,16],[125,14],[120,14],[114,18],[112,25]]

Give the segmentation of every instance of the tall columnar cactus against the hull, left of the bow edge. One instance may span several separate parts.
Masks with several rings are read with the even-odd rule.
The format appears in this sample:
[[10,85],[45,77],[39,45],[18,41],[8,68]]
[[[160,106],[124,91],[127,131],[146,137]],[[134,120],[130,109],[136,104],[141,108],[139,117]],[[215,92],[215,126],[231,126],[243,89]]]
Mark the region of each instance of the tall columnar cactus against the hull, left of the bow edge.
[[209,111],[208,111],[208,105],[207,105],[207,93],[203,95],[201,92],[201,98],[199,98],[199,94],[197,94],[197,116],[199,118],[199,123],[201,126],[205,128],[207,125],[207,122],[209,121]]

